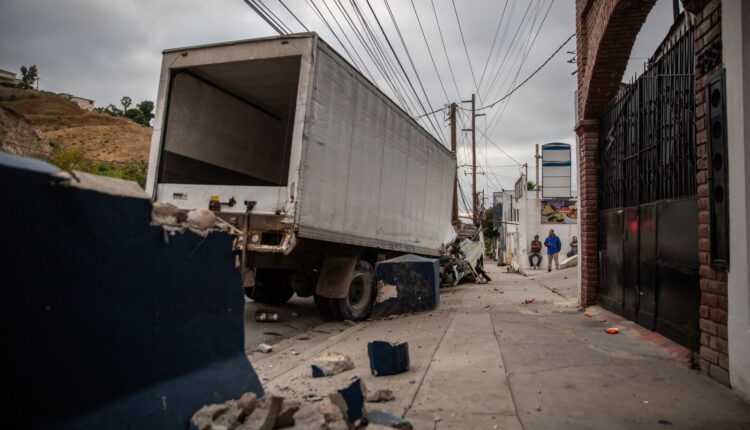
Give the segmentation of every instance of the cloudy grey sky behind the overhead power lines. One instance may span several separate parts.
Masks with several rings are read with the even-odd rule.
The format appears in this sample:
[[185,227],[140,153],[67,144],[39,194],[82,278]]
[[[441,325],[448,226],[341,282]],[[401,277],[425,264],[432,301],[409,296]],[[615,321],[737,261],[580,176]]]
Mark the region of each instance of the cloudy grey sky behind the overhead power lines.
[[[305,26],[320,33],[345,55],[308,0],[263,0],[263,3],[293,31],[302,31],[300,24],[282,7],[282,1]],[[356,1],[363,12],[369,13],[367,0]],[[385,0],[369,2],[426,104],[385,7]],[[314,0],[314,3],[328,17],[344,43],[346,40],[342,34],[346,33],[359,48],[358,52],[376,83],[391,94],[387,83],[358,45],[354,33],[337,9],[337,3],[334,0]],[[390,0],[388,3],[425,87],[431,109],[460,99],[467,100],[471,93],[477,92],[477,86],[480,106],[501,98],[575,31],[574,0],[455,0],[458,14],[451,0],[414,0],[420,22],[417,22],[410,1]],[[351,3],[341,1],[340,4],[350,7]],[[336,27],[326,6],[339,20],[344,32]],[[442,32],[438,30],[438,22]],[[671,22],[671,1],[658,0],[636,41],[626,76],[642,69],[644,59],[653,52]],[[427,43],[420,32],[420,23]],[[498,26],[500,30],[496,32]],[[22,65],[36,64],[42,89],[92,98],[98,106],[118,103],[124,95],[135,102],[155,100],[162,50],[274,34],[275,31],[243,0],[2,0],[0,69],[17,71]],[[437,72],[427,46],[434,57]],[[567,62],[574,57],[567,51],[573,50],[575,39],[512,97],[488,109],[487,116],[478,118],[478,128],[494,142],[478,135],[478,160],[486,173],[479,176],[478,189],[486,190],[488,195],[500,187],[512,189],[520,170],[514,166],[516,161],[529,164],[533,180],[534,144],[574,144],[576,77],[572,72],[575,64]],[[436,126],[442,128],[448,137],[442,113],[434,118]],[[468,121],[465,114],[464,118]],[[426,119],[422,122],[429,127]],[[459,164],[470,160],[469,136],[468,133],[463,135]],[[468,172],[468,169],[463,171]],[[461,174],[461,177],[468,191],[468,176]]]

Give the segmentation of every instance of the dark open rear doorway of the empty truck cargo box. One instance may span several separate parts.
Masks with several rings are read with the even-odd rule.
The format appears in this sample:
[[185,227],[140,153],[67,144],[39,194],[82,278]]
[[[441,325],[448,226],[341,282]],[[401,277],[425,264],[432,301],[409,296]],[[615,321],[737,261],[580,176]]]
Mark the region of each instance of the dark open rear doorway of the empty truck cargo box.
[[285,187],[300,62],[290,56],[173,69],[158,183]]

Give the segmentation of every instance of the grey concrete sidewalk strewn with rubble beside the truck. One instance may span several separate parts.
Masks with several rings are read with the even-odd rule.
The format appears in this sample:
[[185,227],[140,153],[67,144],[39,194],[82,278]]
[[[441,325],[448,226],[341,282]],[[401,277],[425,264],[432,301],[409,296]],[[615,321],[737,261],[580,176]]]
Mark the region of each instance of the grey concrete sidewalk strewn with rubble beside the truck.
[[[750,428],[750,405],[691,370],[687,350],[596,307],[579,310],[575,268],[529,279],[486,267],[492,282],[442,290],[436,311],[324,322],[251,361],[266,390],[286,397],[326,396],[355,376],[389,388],[395,400],[368,408],[417,429]],[[295,330],[315,324],[311,302],[293,303],[307,321]],[[372,376],[371,340],[409,342],[411,369]],[[326,351],[349,355],[355,369],[313,379],[310,361]]]

